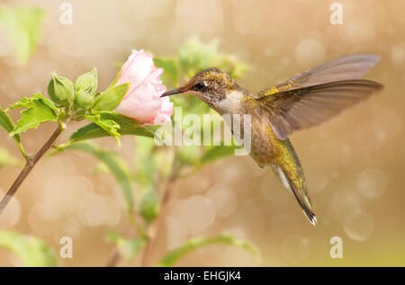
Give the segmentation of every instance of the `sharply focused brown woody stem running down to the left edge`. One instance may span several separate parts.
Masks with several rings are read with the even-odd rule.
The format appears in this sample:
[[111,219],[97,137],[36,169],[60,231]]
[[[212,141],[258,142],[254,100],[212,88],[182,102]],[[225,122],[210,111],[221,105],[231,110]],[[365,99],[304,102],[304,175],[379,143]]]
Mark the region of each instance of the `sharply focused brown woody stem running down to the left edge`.
[[40,158],[43,155],[45,155],[45,153],[49,150],[49,148],[52,147],[53,143],[55,142],[55,140],[58,138],[58,136],[62,131],[63,129],[60,128],[59,125],[58,129],[55,129],[52,136],[50,136],[47,142],[42,147],[40,147],[40,150],[33,157],[26,158],[26,162],[22,172],[18,175],[17,179],[15,179],[13,185],[5,194],[3,200],[0,201],[0,215],[3,213],[8,202],[12,200],[15,192],[20,188],[21,184],[23,183],[27,175],[30,174],[32,168],[37,164]]

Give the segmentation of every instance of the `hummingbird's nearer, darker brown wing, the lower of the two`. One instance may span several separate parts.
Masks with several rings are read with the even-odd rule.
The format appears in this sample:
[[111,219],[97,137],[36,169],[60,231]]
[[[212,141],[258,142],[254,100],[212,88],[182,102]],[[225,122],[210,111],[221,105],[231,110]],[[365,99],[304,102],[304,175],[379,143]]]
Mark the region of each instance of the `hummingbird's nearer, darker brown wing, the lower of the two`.
[[284,91],[257,99],[279,139],[329,120],[383,88],[365,79],[345,80]]

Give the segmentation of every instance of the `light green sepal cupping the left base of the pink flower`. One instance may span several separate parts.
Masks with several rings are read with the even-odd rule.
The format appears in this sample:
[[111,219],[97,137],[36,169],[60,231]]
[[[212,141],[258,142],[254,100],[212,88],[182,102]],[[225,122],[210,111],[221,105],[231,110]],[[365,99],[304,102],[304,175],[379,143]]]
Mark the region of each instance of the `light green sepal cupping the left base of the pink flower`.
[[107,88],[97,99],[93,102],[93,111],[111,111],[117,107],[123,96],[127,94],[130,88],[130,83],[125,83],[123,85],[116,85]]

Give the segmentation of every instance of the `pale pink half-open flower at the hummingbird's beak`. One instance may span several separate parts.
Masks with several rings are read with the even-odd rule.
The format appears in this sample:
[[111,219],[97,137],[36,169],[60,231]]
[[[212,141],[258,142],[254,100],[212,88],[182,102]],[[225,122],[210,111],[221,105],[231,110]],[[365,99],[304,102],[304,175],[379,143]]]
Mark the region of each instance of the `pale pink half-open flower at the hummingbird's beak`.
[[159,79],[162,73],[162,68],[154,66],[150,54],[143,50],[132,50],[116,83],[130,82],[130,88],[115,111],[148,125],[165,125],[170,121],[173,102],[168,97],[160,98],[166,91],[166,86]]

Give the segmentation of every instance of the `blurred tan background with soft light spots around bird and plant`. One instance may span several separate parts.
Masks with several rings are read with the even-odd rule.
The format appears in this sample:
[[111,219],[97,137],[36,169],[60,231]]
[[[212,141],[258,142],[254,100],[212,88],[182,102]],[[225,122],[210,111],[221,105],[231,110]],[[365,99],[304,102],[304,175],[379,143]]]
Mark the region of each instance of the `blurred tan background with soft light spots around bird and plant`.
[[[238,83],[251,91],[350,53],[381,56],[367,78],[383,83],[382,93],[291,138],[317,227],[272,171],[260,169],[248,156],[229,156],[175,185],[154,259],[190,237],[229,233],[257,245],[260,258],[238,247],[210,245],[176,265],[405,265],[404,1],[338,1],[344,9],[342,25],[329,22],[335,1],[72,0],[73,22],[66,25],[59,22],[64,2],[1,0],[3,7],[44,11],[38,47],[25,64],[16,58],[7,27],[0,26],[2,107],[37,91],[46,94],[52,72],[74,79],[97,67],[105,88],[131,49],[172,56],[192,36],[219,40],[221,52],[246,62],[250,69]],[[18,119],[18,111],[12,118]],[[67,141],[79,126],[58,141]],[[24,134],[27,151],[36,151],[53,129],[47,123]],[[5,132],[2,138],[0,147],[19,157],[13,139]],[[123,156],[134,147],[131,137],[122,138],[121,148],[113,138],[96,142]],[[112,175],[94,174],[96,164],[76,152],[43,159],[0,217],[0,228],[38,236],[57,254],[60,237],[71,236],[73,259],[58,258],[59,265],[105,266],[113,249],[105,233],[109,228],[125,231],[128,219]],[[19,172],[14,165],[0,169],[1,196]],[[343,240],[342,259],[329,255],[332,236]],[[139,258],[118,263],[137,264]],[[21,263],[0,248],[0,265]]]

